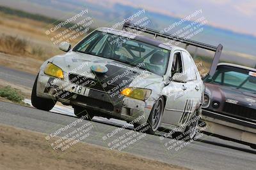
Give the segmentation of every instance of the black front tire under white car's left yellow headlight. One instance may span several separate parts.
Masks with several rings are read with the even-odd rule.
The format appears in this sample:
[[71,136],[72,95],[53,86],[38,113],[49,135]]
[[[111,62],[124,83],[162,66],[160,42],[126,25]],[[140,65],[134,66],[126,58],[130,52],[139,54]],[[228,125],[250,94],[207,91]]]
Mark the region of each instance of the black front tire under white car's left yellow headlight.
[[38,108],[39,110],[49,111],[54,107],[56,101],[54,101],[53,99],[44,99],[42,97],[36,96],[37,79],[38,79],[38,74],[36,76],[36,80],[33,85],[32,93],[31,93],[31,103],[35,108]]

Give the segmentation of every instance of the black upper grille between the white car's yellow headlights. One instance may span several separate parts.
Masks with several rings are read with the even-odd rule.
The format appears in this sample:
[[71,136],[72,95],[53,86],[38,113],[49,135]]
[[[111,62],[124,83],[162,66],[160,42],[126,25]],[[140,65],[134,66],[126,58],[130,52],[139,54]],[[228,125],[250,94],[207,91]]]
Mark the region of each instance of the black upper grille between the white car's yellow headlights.
[[83,87],[89,87],[90,89],[96,89],[103,92],[108,92],[109,90],[115,88],[115,85],[107,85],[103,88],[103,81],[100,82],[99,80],[87,78],[77,74],[69,74],[69,80],[71,83],[76,83],[77,85],[82,85]]

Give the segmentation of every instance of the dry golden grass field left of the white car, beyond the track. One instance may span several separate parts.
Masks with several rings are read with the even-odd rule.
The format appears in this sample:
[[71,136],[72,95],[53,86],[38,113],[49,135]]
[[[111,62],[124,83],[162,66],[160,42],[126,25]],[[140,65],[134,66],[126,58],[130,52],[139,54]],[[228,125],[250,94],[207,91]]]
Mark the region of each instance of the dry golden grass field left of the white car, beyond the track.
[[63,53],[45,35],[47,25],[0,12],[0,65],[37,74],[45,60]]

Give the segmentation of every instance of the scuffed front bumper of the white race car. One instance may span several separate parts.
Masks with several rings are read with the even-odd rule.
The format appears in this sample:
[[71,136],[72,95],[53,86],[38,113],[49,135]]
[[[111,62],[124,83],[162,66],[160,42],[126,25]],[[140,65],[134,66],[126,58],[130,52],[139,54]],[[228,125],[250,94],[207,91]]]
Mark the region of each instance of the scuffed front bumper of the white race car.
[[76,84],[71,83],[68,77],[60,80],[42,72],[38,75],[36,95],[71,106],[82,106],[102,117],[118,118],[127,122],[140,117],[138,124],[147,121],[154,104],[154,101],[149,99],[140,101],[130,97],[111,97],[107,92],[89,88],[84,95],[75,94],[72,92],[74,87]]

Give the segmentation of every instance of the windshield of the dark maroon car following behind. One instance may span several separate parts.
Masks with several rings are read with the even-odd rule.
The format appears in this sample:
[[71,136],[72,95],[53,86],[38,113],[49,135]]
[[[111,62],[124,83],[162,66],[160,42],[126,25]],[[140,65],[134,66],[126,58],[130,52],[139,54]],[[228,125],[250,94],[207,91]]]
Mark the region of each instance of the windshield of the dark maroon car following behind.
[[246,90],[256,94],[256,73],[246,69],[222,66],[212,78],[207,78],[207,83],[216,83],[237,90]]

